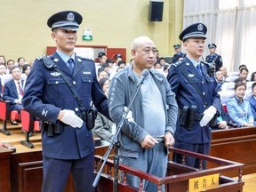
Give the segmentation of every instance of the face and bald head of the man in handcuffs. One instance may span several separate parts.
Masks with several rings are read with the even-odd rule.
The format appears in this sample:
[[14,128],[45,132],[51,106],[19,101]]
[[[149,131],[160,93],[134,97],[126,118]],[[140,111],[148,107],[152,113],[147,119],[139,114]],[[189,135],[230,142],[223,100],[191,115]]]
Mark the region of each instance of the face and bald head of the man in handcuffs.
[[135,49],[132,49],[134,66],[140,71],[145,68],[152,68],[156,62],[156,45],[150,40],[140,42]]

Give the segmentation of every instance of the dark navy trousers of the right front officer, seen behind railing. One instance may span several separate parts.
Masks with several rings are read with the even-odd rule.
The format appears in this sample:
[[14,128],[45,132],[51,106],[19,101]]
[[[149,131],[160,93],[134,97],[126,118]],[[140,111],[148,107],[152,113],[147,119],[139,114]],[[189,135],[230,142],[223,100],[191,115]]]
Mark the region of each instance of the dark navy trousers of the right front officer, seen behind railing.
[[[196,152],[199,154],[209,155],[211,143],[209,142],[209,143],[203,143],[203,144],[191,144],[191,143],[185,143],[185,142],[180,142],[178,140],[175,140],[174,147],[192,151],[192,152]],[[173,161],[178,164],[181,164],[182,155],[174,153]],[[199,159],[194,156],[186,156],[185,164],[198,169],[199,168]],[[206,161],[203,161],[203,169],[206,169]]]

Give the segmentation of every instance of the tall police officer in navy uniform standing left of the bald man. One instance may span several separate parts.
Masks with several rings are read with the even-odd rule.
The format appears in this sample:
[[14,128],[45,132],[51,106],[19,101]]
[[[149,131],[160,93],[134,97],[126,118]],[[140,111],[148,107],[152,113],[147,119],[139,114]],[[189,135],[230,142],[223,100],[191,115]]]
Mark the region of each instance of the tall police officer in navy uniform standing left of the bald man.
[[[58,12],[49,18],[47,25],[52,28],[57,51],[48,58],[50,62],[35,60],[22,100],[24,108],[43,122],[43,192],[63,191],[69,172],[76,191],[94,191],[94,142],[92,131],[87,127],[91,122],[88,116],[81,116],[82,106],[88,111],[92,100],[100,113],[109,117],[108,100],[97,81],[94,62],[74,52],[82,20],[82,16],[73,11]],[[77,94],[71,92],[62,75]],[[77,96],[82,100],[80,104]]]

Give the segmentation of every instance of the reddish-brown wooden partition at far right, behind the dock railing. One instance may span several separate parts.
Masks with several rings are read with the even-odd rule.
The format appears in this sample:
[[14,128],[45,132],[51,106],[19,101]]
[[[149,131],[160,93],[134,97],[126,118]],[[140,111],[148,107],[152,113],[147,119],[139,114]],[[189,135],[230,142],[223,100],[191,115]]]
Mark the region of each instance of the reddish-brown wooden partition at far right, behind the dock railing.
[[[256,127],[212,132],[211,156],[245,164],[243,174],[256,172]],[[216,164],[208,164],[214,167]],[[228,176],[236,176],[229,172]]]

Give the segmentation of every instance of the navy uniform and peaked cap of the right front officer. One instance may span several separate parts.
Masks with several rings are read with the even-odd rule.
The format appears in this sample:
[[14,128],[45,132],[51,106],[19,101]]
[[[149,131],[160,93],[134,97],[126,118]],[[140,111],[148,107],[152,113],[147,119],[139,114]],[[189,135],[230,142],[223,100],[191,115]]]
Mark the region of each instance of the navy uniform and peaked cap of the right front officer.
[[[193,24],[182,31],[180,40],[185,41],[193,37],[206,38],[206,30],[207,28],[202,23]],[[190,122],[189,128],[188,124],[179,123],[182,121],[182,116],[178,116],[174,147],[207,155],[210,151],[211,127],[209,125],[201,127],[199,123],[206,108],[213,106],[220,111],[221,104],[220,95],[216,92],[217,84],[214,76],[208,75],[209,66],[203,62],[200,65],[202,76],[191,60],[185,57],[183,60],[172,64],[167,79],[171,84],[172,92],[176,94],[181,112],[183,107],[196,106],[196,111],[194,111],[196,116]],[[204,100],[198,92],[202,93]],[[182,156],[175,154],[173,160],[181,163]],[[186,164],[198,168],[199,162],[195,157],[186,156]],[[203,166],[205,168],[206,164],[204,163]]]

